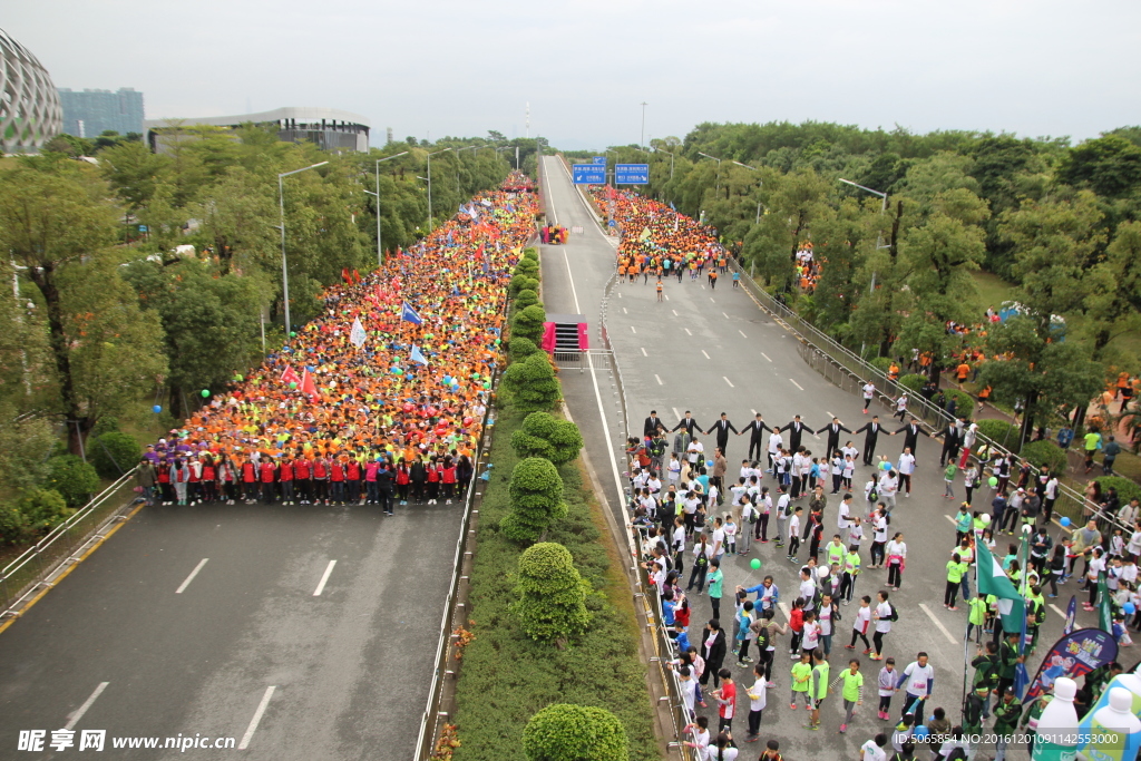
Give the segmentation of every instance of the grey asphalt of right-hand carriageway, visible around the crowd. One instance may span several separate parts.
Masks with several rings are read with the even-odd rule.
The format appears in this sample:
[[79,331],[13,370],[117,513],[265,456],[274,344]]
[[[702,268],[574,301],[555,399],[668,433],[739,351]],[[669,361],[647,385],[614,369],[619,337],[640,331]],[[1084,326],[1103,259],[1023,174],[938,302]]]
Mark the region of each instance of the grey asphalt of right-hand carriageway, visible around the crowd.
[[[575,298],[580,309],[591,321],[590,334],[598,335],[599,303],[602,299],[602,286],[609,278],[615,264],[615,248],[606,240],[597,224],[577,197],[577,191],[572,186],[569,177],[558,160],[544,160],[547,168],[545,192],[548,204],[557,218],[557,222],[566,226],[583,226],[581,235],[572,235],[566,246],[545,246],[543,251],[544,302],[548,311],[575,311]],[[573,284],[573,289],[572,289]],[[704,428],[710,428],[721,412],[741,429],[753,418],[753,410],[764,415],[770,426],[785,424],[800,414],[802,420],[812,428],[823,428],[831,421],[833,413],[848,428],[856,429],[871,418],[861,414],[863,402],[856,396],[845,394],[827,382],[816,371],[801,361],[796,343],[784,329],[774,323],[758,307],[743,289],[734,290],[729,277],[722,277],[715,290],[711,290],[703,277],[690,282],[688,275],[682,283],[677,278],[665,283],[663,302],[656,301],[654,278],[642,284],[641,278],[634,284],[622,284],[613,294],[607,317],[609,337],[615,356],[621,366],[630,414],[630,434],[641,434],[642,419],[652,408],[672,428],[686,410],[691,410],[694,418]],[[586,450],[596,470],[604,479],[604,487],[610,497],[612,509],[617,509],[618,497],[613,484],[621,478],[623,468],[608,467],[607,460],[613,448],[621,447],[625,431],[621,430],[618,418],[614,412],[614,390],[612,377],[605,369],[605,363],[594,361],[598,395],[590,372],[585,379],[575,371],[564,371],[563,379],[568,406],[576,422],[584,429]],[[873,404],[872,414],[879,414],[888,421],[891,411],[882,405]],[[607,420],[612,447],[604,440],[602,419]],[[890,427],[895,430],[898,422]],[[863,434],[851,437],[856,446],[863,450]],[[712,436],[702,437],[706,452],[714,446]],[[672,436],[671,436],[672,442]],[[844,438],[841,439],[843,444]],[[823,452],[826,442],[823,437],[807,435],[803,444],[814,453]],[[877,454],[896,458],[903,447],[903,436],[893,438],[880,437]],[[928,702],[926,713],[932,709],[944,706],[953,722],[960,719],[960,699],[963,685],[963,635],[966,625],[966,608],[960,604],[960,610],[950,612],[942,606],[942,591],[946,582],[946,562],[955,543],[955,529],[950,515],[957,510],[957,501],[942,497],[944,481],[939,468],[941,443],[920,438],[917,445],[917,470],[914,476],[913,496],[900,495],[898,508],[892,512],[891,532],[905,534],[908,547],[907,568],[903,588],[891,593],[891,601],[898,605],[900,620],[892,626],[892,632],[885,638],[887,655],[896,658],[898,667],[903,669],[914,659],[915,654],[925,650],[936,667],[936,683],[932,698]],[[727,458],[730,464],[730,476],[736,478],[738,465],[747,451],[747,438],[730,436]],[[617,463],[622,462],[621,448],[617,448]],[[598,464],[601,463],[601,464]],[[853,479],[857,486],[857,503],[863,505],[863,484],[867,480],[871,469],[863,465],[857,469]],[[771,477],[764,480],[775,491]],[[955,484],[956,494],[962,499],[962,479]],[[982,489],[976,495],[976,507],[987,505],[989,510],[989,489]],[[807,501],[804,501],[807,503]],[[825,511],[825,539],[835,531],[835,516],[839,497],[830,497]],[[807,511],[807,508],[806,508]],[[863,515],[863,510],[860,510]],[[770,527],[775,520],[770,523]],[[1055,540],[1060,529],[1052,527]],[[1004,553],[1009,539],[1000,539],[996,551]],[[863,559],[868,562],[867,548],[871,540],[865,540]],[[807,550],[801,549],[800,558],[807,557]],[[750,567],[752,558],[760,558],[763,566],[760,570]],[[799,583],[799,564],[785,560],[785,549],[774,544],[754,545],[748,556],[726,556],[722,570],[726,577],[726,598],[722,605],[722,618],[731,618],[731,590],[734,585],[753,585],[763,576],[771,574],[782,590],[782,599],[787,601],[795,596]],[[687,564],[688,573],[688,564]],[[866,570],[857,583],[857,597],[871,594],[887,583],[885,570]],[[973,582],[972,582],[973,590]],[[1035,674],[1041,655],[1054,640],[1061,635],[1063,610],[1069,596],[1076,592],[1071,582],[1059,588],[1060,596],[1049,608],[1046,623],[1042,626],[1041,646],[1037,658],[1028,662],[1030,675]],[[1084,597],[1079,596],[1081,600]],[[695,607],[690,626],[696,639],[695,629],[704,624],[711,615],[707,598],[690,598]],[[729,613],[725,610],[728,608]],[[850,638],[852,607],[842,608],[843,621],[840,622],[831,658],[833,677],[847,662],[850,650],[843,645]],[[1077,628],[1095,626],[1094,614],[1078,610]],[[786,640],[780,641],[778,658],[774,669],[774,680],[777,687],[769,690],[768,707],[764,711],[761,737],[776,737],[782,743],[782,751],[795,754],[796,758],[808,758],[810,754],[823,753],[820,758],[855,758],[859,746],[877,731],[888,731],[890,723],[876,719],[875,683],[882,662],[873,662],[861,657],[861,671],[865,674],[865,703],[857,711],[847,735],[837,734],[842,719],[842,706],[837,695],[830,697],[822,709],[820,731],[804,729],[806,712],[795,713],[788,709],[788,687],[791,659],[786,651]],[[858,650],[856,651],[859,653]],[[974,648],[971,646],[973,657]],[[727,663],[733,659],[727,658]],[[1127,661],[1131,661],[1126,656]],[[729,664],[733,665],[733,664]],[[736,674],[752,683],[751,672],[737,670]],[[738,681],[741,681],[738,679]],[[744,698],[742,698],[744,699]],[[892,703],[892,713],[898,717],[901,711],[903,697],[897,696]],[[710,701],[710,705],[715,703]],[[736,735],[744,737],[747,702],[738,705],[738,719],[735,721]],[[715,727],[715,710],[705,711]],[[758,744],[763,747],[763,743]],[[752,748],[756,747],[751,745]],[[994,748],[982,748],[984,754],[994,754]],[[756,751],[758,754],[760,750]],[[1008,754],[1009,758],[1026,758],[1022,748]]]

